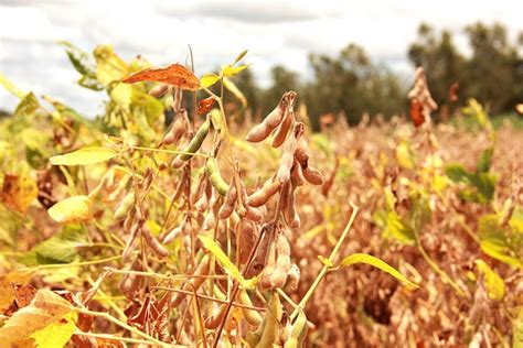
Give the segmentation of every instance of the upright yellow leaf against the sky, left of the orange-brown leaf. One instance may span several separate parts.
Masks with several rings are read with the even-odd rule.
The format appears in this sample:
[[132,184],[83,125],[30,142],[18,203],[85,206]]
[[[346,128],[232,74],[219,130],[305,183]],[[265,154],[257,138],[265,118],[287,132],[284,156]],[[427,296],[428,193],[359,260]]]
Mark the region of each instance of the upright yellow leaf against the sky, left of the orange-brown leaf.
[[97,64],[96,78],[105,87],[129,75],[127,64],[113,52],[113,46],[99,45],[94,55]]

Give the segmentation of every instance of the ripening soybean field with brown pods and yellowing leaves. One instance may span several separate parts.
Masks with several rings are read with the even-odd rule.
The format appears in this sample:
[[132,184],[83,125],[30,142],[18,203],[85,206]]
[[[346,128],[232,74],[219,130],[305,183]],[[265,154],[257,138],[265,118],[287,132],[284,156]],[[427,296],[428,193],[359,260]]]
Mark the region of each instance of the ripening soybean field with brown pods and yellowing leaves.
[[523,347],[523,131],[481,100],[433,121],[418,68],[403,115],[317,128],[248,112],[247,52],[64,46],[96,119],[0,75],[1,347]]

